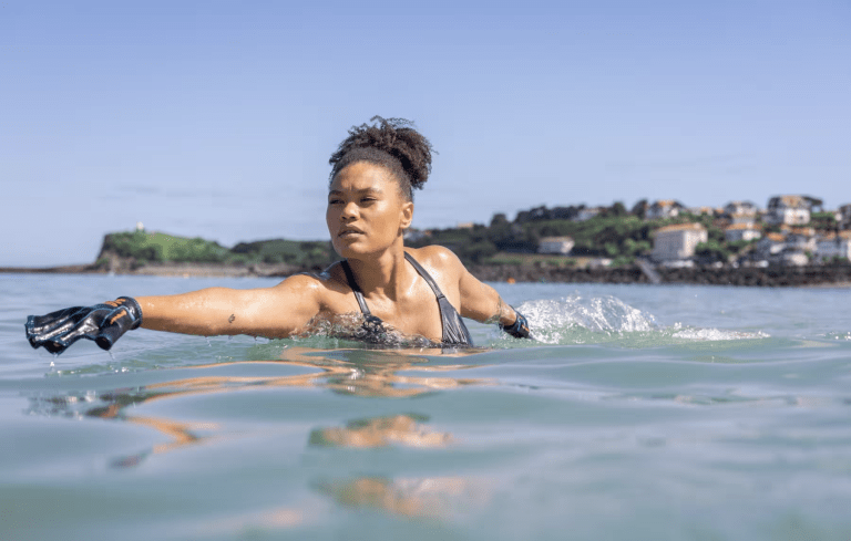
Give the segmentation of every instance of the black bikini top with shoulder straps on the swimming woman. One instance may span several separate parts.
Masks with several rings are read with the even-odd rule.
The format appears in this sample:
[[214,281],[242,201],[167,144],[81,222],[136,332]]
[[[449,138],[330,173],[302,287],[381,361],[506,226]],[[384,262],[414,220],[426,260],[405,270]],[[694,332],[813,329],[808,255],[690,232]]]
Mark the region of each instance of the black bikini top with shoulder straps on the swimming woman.
[[[426,283],[429,284],[431,291],[433,291],[434,295],[438,298],[440,320],[443,325],[443,337],[441,339],[441,345],[473,345],[473,340],[470,337],[470,331],[466,330],[464,321],[461,319],[461,315],[458,313],[455,308],[445,298],[443,292],[440,291],[440,288],[431,278],[431,274],[429,274],[426,269],[423,269],[422,266],[420,266],[420,263],[418,263],[417,260],[411,257],[410,253],[404,252],[404,259],[407,259],[408,262],[413,266],[414,270],[422,277],[423,280],[426,280]],[[381,319],[372,315],[372,313],[369,311],[367,301],[363,299],[363,292],[358,287],[358,282],[355,281],[355,274],[351,273],[349,262],[344,259],[341,263],[342,270],[346,272],[346,280],[349,282],[349,288],[351,288],[351,291],[355,292],[355,299],[358,300],[360,311],[363,312],[363,318],[366,319],[363,327],[367,331],[367,337],[370,341],[378,341],[379,336],[385,333]]]

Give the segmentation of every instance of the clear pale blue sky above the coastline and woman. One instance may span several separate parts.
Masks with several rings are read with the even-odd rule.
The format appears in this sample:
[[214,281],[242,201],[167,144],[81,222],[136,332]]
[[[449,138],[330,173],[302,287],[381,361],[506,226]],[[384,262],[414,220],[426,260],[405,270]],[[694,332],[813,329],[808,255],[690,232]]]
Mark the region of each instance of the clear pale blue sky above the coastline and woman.
[[0,266],[103,233],[326,238],[372,115],[440,153],[414,226],[533,206],[851,202],[851,2],[0,0]]

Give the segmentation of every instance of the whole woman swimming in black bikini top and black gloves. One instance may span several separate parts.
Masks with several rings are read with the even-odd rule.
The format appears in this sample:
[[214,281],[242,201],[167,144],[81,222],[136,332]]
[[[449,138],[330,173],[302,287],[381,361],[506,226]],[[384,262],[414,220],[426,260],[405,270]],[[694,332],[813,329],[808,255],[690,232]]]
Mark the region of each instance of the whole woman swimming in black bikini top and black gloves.
[[499,323],[529,337],[525,319],[480,282],[447,248],[406,248],[413,189],[431,171],[431,144],[400,118],[352,127],[331,155],[326,221],[344,259],[321,274],[296,274],[273,288],[209,288],[166,296],[119,298],[29,316],[33,347],[61,353],[81,337],[104,350],[127,330],[185,334],[309,334],[319,322],[362,314],[356,337],[426,337],[444,346],[472,345],[461,316]]

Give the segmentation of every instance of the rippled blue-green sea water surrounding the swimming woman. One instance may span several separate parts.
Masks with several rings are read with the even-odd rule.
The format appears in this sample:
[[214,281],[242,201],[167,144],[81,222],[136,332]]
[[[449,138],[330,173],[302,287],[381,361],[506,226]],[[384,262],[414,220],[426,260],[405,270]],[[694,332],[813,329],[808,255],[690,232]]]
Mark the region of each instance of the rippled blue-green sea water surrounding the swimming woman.
[[537,341],[375,351],[28,314],[270,280],[0,275],[0,539],[851,539],[851,290],[493,287]]

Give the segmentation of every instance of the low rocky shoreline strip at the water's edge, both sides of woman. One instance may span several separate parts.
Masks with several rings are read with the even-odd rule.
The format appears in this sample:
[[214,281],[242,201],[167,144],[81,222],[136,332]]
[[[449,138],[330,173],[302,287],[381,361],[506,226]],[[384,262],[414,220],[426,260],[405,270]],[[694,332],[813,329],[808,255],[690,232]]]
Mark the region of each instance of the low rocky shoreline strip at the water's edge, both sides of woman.
[[[564,283],[644,283],[653,281],[637,266],[609,268],[571,268],[547,264],[474,264],[469,267],[476,278],[492,282],[564,282]],[[137,268],[113,268],[115,274],[183,278],[285,278],[298,272],[317,272],[286,263],[225,266],[216,263],[157,263]],[[659,283],[750,287],[851,287],[851,264],[835,263],[806,267],[655,269]],[[106,274],[94,264],[50,268],[0,268],[2,273],[27,274]]]

